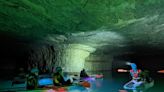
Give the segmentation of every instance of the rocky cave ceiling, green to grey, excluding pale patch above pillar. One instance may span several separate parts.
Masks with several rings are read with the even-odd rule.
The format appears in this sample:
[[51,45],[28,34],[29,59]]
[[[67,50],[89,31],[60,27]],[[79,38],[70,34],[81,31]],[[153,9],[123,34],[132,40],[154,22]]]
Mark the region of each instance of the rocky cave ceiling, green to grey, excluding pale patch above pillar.
[[49,34],[64,35],[67,39],[78,32],[87,36],[105,28],[134,44],[158,45],[163,36],[163,3],[163,0],[1,0],[0,31],[18,39],[36,40]]

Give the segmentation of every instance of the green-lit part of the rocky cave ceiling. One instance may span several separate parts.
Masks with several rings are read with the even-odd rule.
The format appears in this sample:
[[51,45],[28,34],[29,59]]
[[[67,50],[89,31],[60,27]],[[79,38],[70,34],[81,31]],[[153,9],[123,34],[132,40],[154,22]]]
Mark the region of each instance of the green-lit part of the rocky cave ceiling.
[[1,31],[23,36],[123,27],[163,13],[163,0],[1,0]]

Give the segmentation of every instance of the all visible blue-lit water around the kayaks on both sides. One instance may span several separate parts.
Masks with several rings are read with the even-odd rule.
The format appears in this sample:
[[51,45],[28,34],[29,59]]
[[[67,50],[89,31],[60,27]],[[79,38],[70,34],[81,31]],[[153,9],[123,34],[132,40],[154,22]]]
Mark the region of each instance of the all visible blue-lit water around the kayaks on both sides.
[[[91,80],[91,88],[87,89],[89,92],[133,92],[133,91],[127,91],[123,89],[123,85],[130,81],[130,76],[128,73],[110,73],[110,72],[101,72],[104,74],[103,79],[97,79],[97,80]],[[153,76],[153,79],[155,80],[155,84],[152,88],[148,89],[144,92],[164,92],[164,74],[155,74]],[[11,84],[6,83],[2,84],[2,81],[0,83],[0,90],[3,88],[5,89],[11,89]],[[3,87],[2,87],[3,85]],[[17,89],[17,88],[15,88]],[[82,87],[70,87],[71,90],[76,90],[73,92],[86,92],[84,91],[84,88]],[[17,89],[19,90],[19,89]],[[21,90],[21,89],[20,89]],[[83,90],[83,91],[82,91]],[[32,90],[31,92],[56,92],[53,90]],[[26,91],[25,91],[26,92]],[[61,91],[65,92],[65,91]]]

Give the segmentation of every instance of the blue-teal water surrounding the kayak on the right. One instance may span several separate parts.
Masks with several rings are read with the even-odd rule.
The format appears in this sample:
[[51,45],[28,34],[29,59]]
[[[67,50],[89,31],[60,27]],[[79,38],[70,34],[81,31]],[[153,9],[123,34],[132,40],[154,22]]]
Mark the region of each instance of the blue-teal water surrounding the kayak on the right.
[[103,79],[90,81],[91,88],[89,92],[164,92],[164,79],[159,76],[153,76],[154,82],[144,85],[143,89],[126,90],[123,86],[130,81],[129,76],[128,73],[115,74],[113,76],[110,72],[104,72]]

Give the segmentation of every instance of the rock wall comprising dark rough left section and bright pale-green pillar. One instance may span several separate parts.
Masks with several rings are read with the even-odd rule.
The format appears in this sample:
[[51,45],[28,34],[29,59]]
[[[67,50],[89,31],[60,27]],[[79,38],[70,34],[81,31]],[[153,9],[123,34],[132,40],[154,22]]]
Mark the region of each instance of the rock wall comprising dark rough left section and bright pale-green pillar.
[[82,44],[35,47],[29,52],[28,68],[46,65],[51,71],[53,67],[61,66],[66,72],[80,72],[84,68],[85,58],[93,51],[94,48]]

